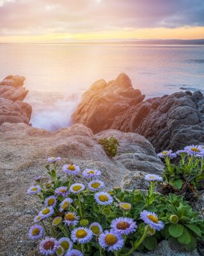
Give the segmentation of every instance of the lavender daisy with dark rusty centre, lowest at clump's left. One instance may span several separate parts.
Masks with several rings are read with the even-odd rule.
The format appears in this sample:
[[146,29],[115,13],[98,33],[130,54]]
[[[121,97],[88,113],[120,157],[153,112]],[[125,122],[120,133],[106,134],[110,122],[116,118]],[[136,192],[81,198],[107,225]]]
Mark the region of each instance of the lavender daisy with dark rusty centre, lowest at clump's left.
[[59,243],[53,237],[46,237],[40,242],[39,250],[42,255],[54,255],[57,252]]

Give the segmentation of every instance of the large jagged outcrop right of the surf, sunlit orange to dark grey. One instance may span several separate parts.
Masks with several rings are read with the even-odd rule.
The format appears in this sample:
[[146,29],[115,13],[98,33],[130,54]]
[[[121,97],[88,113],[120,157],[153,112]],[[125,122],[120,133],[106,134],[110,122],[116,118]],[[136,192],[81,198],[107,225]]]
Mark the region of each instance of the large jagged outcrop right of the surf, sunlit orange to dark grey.
[[156,151],[177,150],[204,143],[204,97],[201,92],[178,92],[143,100],[126,74],[106,83],[96,81],[82,95],[73,113],[73,122],[84,124],[94,133],[106,129],[137,132]]

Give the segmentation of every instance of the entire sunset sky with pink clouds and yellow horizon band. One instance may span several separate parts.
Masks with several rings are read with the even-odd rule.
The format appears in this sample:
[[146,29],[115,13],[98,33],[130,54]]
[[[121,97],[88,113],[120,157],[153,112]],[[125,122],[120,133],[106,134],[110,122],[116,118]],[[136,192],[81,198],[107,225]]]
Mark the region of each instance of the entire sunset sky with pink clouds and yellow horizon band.
[[204,0],[0,0],[0,42],[204,38]]

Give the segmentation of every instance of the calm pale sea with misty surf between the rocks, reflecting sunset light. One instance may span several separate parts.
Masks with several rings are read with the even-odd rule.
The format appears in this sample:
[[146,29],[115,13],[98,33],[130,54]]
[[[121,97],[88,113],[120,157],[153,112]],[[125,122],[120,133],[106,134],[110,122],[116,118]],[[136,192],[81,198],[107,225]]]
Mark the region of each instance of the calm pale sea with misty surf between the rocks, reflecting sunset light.
[[180,90],[204,92],[204,45],[5,45],[0,79],[26,77],[31,123],[55,131],[71,125],[80,95],[98,79],[121,72],[149,97]]

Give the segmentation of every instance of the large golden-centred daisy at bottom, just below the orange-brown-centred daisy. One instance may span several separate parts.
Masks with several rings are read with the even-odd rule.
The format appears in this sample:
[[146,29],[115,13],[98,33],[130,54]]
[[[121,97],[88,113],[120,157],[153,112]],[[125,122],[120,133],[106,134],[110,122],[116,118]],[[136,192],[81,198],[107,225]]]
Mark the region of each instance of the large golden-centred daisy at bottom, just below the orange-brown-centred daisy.
[[105,232],[99,235],[98,242],[103,249],[111,252],[120,250],[124,245],[122,235],[115,230],[105,230]]

